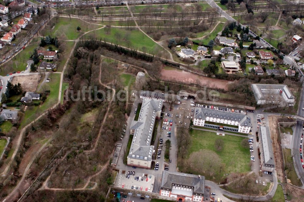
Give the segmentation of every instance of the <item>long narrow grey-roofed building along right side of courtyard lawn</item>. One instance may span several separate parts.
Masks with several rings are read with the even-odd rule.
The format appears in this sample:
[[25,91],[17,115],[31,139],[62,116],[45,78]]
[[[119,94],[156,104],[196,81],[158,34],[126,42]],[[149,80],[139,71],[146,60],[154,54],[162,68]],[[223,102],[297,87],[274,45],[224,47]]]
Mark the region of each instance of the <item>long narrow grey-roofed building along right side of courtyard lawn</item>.
[[260,126],[259,138],[259,147],[261,152],[261,170],[272,172],[275,167],[275,161],[273,158],[272,142],[268,127]]

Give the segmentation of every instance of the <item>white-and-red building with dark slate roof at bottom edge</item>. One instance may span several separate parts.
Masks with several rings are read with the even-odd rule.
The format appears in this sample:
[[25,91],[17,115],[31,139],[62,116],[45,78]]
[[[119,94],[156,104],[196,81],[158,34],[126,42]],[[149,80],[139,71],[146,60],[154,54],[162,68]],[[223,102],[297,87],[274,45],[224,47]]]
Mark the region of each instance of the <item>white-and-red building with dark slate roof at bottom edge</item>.
[[[205,177],[200,175],[163,171],[159,194],[176,201],[203,201]],[[210,194],[210,193],[209,193]]]

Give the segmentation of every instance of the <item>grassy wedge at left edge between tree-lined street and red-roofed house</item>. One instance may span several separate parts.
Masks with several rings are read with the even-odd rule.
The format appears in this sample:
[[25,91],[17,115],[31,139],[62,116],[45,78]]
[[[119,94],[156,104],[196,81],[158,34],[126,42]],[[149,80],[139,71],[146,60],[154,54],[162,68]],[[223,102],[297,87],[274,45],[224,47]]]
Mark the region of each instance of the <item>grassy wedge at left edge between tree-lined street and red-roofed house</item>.
[[15,55],[11,61],[3,65],[1,76],[7,75],[9,72],[24,71],[27,65],[29,57],[33,54],[34,49],[37,48],[37,44],[26,46],[24,50],[20,50],[18,55]]

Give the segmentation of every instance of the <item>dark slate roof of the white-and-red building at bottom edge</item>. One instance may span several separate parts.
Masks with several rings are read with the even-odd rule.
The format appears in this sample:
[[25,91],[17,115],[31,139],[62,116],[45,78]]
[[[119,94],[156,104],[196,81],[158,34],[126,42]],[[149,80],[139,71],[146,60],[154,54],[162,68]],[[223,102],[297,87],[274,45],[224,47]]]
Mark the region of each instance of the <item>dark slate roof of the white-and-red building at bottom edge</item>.
[[193,194],[204,195],[204,176],[164,170],[161,178],[161,189],[172,190],[172,184],[192,187]]

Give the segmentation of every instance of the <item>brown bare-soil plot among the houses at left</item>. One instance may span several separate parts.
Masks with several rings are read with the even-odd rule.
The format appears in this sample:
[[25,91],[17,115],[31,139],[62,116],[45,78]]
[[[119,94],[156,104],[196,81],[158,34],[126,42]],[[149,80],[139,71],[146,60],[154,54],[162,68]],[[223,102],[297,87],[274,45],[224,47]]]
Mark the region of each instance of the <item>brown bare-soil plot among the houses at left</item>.
[[11,82],[14,85],[20,83],[23,91],[36,92],[41,77],[41,74],[14,76]]

